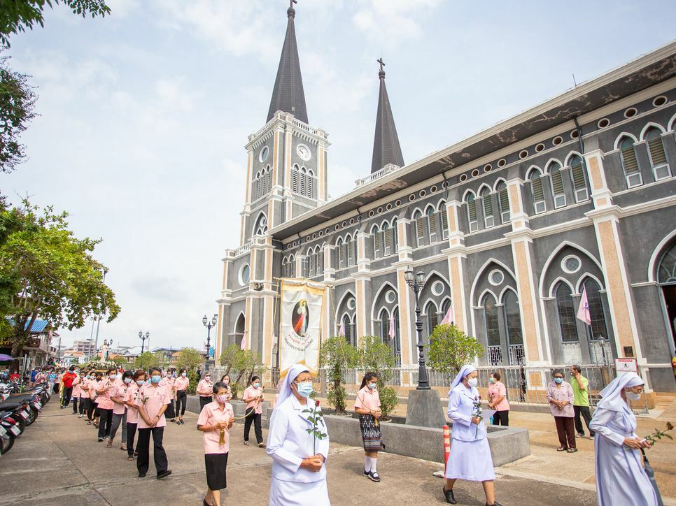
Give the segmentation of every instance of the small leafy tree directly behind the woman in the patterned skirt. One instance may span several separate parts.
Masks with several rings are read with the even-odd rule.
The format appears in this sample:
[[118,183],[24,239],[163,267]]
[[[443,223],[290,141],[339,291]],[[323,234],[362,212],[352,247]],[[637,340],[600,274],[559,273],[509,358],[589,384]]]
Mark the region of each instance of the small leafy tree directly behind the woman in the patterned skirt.
[[386,345],[376,335],[365,335],[359,344],[359,362],[365,373],[372,372],[378,377],[378,393],[380,396],[380,410],[382,418],[388,415],[399,402],[397,391],[387,382],[392,379],[394,355],[392,348]]

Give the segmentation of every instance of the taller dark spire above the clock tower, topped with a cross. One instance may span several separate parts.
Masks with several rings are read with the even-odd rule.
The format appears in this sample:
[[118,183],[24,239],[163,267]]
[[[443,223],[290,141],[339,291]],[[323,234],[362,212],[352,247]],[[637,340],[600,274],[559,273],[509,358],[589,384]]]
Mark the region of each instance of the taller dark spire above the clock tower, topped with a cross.
[[279,68],[277,68],[277,78],[274,80],[274,90],[272,91],[270,110],[267,113],[267,121],[272,120],[272,116],[278,110],[282,110],[307,123],[303,78],[300,75],[296,31],[293,26],[293,19],[296,15],[293,4],[297,2],[290,0],[290,3],[291,6],[286,11],[289,18],[286,26],[286,37],[284,38],[281,57],[279,57]]

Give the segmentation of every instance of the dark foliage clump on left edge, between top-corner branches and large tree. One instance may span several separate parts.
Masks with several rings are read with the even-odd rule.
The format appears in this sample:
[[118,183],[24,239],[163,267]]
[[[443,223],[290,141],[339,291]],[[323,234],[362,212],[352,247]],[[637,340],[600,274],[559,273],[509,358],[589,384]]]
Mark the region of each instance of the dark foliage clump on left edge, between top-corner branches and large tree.
[[37,99],[28,84],[29,76],[9,68],[8,59],[0,56],[0,172],[5,173],[13,171],[25,157],[19,136],[36,116]]

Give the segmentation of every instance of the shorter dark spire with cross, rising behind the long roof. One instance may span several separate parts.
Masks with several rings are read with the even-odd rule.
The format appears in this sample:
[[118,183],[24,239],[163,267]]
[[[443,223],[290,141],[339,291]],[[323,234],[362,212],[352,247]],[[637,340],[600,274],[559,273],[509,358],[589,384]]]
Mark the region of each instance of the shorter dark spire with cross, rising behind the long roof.
[[373,140],[373,161],[371,162],[371,173],[379,171],[387,164],[394,164],[400,167],[404,166],[404,157],[402,156],[402,147],[399,144],[397,136],[397,127],[394,124],[390,99],[387,96],[385,87],[385,71],[383,66],[385,62],[379,59],[380,71],[380,94],[378,96],[378,111],[376,112],[376,135]]

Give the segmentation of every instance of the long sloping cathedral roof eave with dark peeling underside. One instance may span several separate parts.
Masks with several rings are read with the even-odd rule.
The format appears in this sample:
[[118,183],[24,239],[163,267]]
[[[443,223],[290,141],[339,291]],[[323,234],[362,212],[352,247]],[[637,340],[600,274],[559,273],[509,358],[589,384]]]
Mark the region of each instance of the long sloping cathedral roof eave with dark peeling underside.
[[305,231],[323,226],[325,222],[338,217],[358,217],[364,205],[440,175],[444,178],[456,175],[487,153],[501,150],[548,129],[561,128],[562,124],[568,124],[572,129],[575,127],[573,118],[673,77],[676,77],[676,42],[668,43],[493,127],[376,178],[319,208],[274,227],[270,233],[276,240],[283,241],[301,236]]

